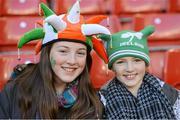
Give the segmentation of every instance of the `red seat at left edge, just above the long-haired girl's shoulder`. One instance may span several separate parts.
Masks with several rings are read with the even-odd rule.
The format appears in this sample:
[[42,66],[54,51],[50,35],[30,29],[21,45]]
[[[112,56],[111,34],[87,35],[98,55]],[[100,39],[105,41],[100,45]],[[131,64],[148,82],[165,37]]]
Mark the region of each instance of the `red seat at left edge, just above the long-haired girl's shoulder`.
[[17,52],[7,52],[5,54],[0,54],[0,90],[3,88],[4,84],[9,80],[13,68],[17,64],[22,64],[26,62],[36,63],[38,61],[38,56],[35,56],[32,53],[32,51],[23,52],[23,54],[21,55],[21,60],[18,60],[17,58]]

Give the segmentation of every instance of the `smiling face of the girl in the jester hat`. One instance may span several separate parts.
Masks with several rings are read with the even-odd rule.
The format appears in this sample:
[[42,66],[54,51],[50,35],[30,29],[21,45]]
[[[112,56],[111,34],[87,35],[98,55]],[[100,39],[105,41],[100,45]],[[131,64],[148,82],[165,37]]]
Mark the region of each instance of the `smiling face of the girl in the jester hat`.
[[85,68],[86,57],[87,47],[81,43],[54,43],[50,51],[50,61],[58,78],[56,83],[70,83],[75,80]]

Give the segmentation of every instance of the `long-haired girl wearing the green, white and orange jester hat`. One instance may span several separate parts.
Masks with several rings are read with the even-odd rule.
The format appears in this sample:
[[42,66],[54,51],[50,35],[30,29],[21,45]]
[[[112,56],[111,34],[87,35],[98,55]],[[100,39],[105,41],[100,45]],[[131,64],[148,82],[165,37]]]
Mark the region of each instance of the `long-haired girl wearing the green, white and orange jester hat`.
[[91,85],[90,51],[108,62],[103,44],[95,35],[107,34],[98,23],[106,16],[84,20],[79,1],[67,14],[56,15],[45,4],[42,28],[25,33],[18,43],[21,48],[40,40],[37,64],[28,64],[0,93],[0,118],[96,119],[102,117],[102,104]]

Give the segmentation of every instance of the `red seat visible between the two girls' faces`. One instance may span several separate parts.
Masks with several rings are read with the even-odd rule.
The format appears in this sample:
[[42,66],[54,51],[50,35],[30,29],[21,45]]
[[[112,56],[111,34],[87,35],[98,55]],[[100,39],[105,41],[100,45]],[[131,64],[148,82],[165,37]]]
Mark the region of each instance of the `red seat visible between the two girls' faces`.
[[104,61],[93,51],[92,52],[92,68],[90,77],[92,84],[96,89],[100,89],[106,82],[113,78],[112,71],[107,69]]

